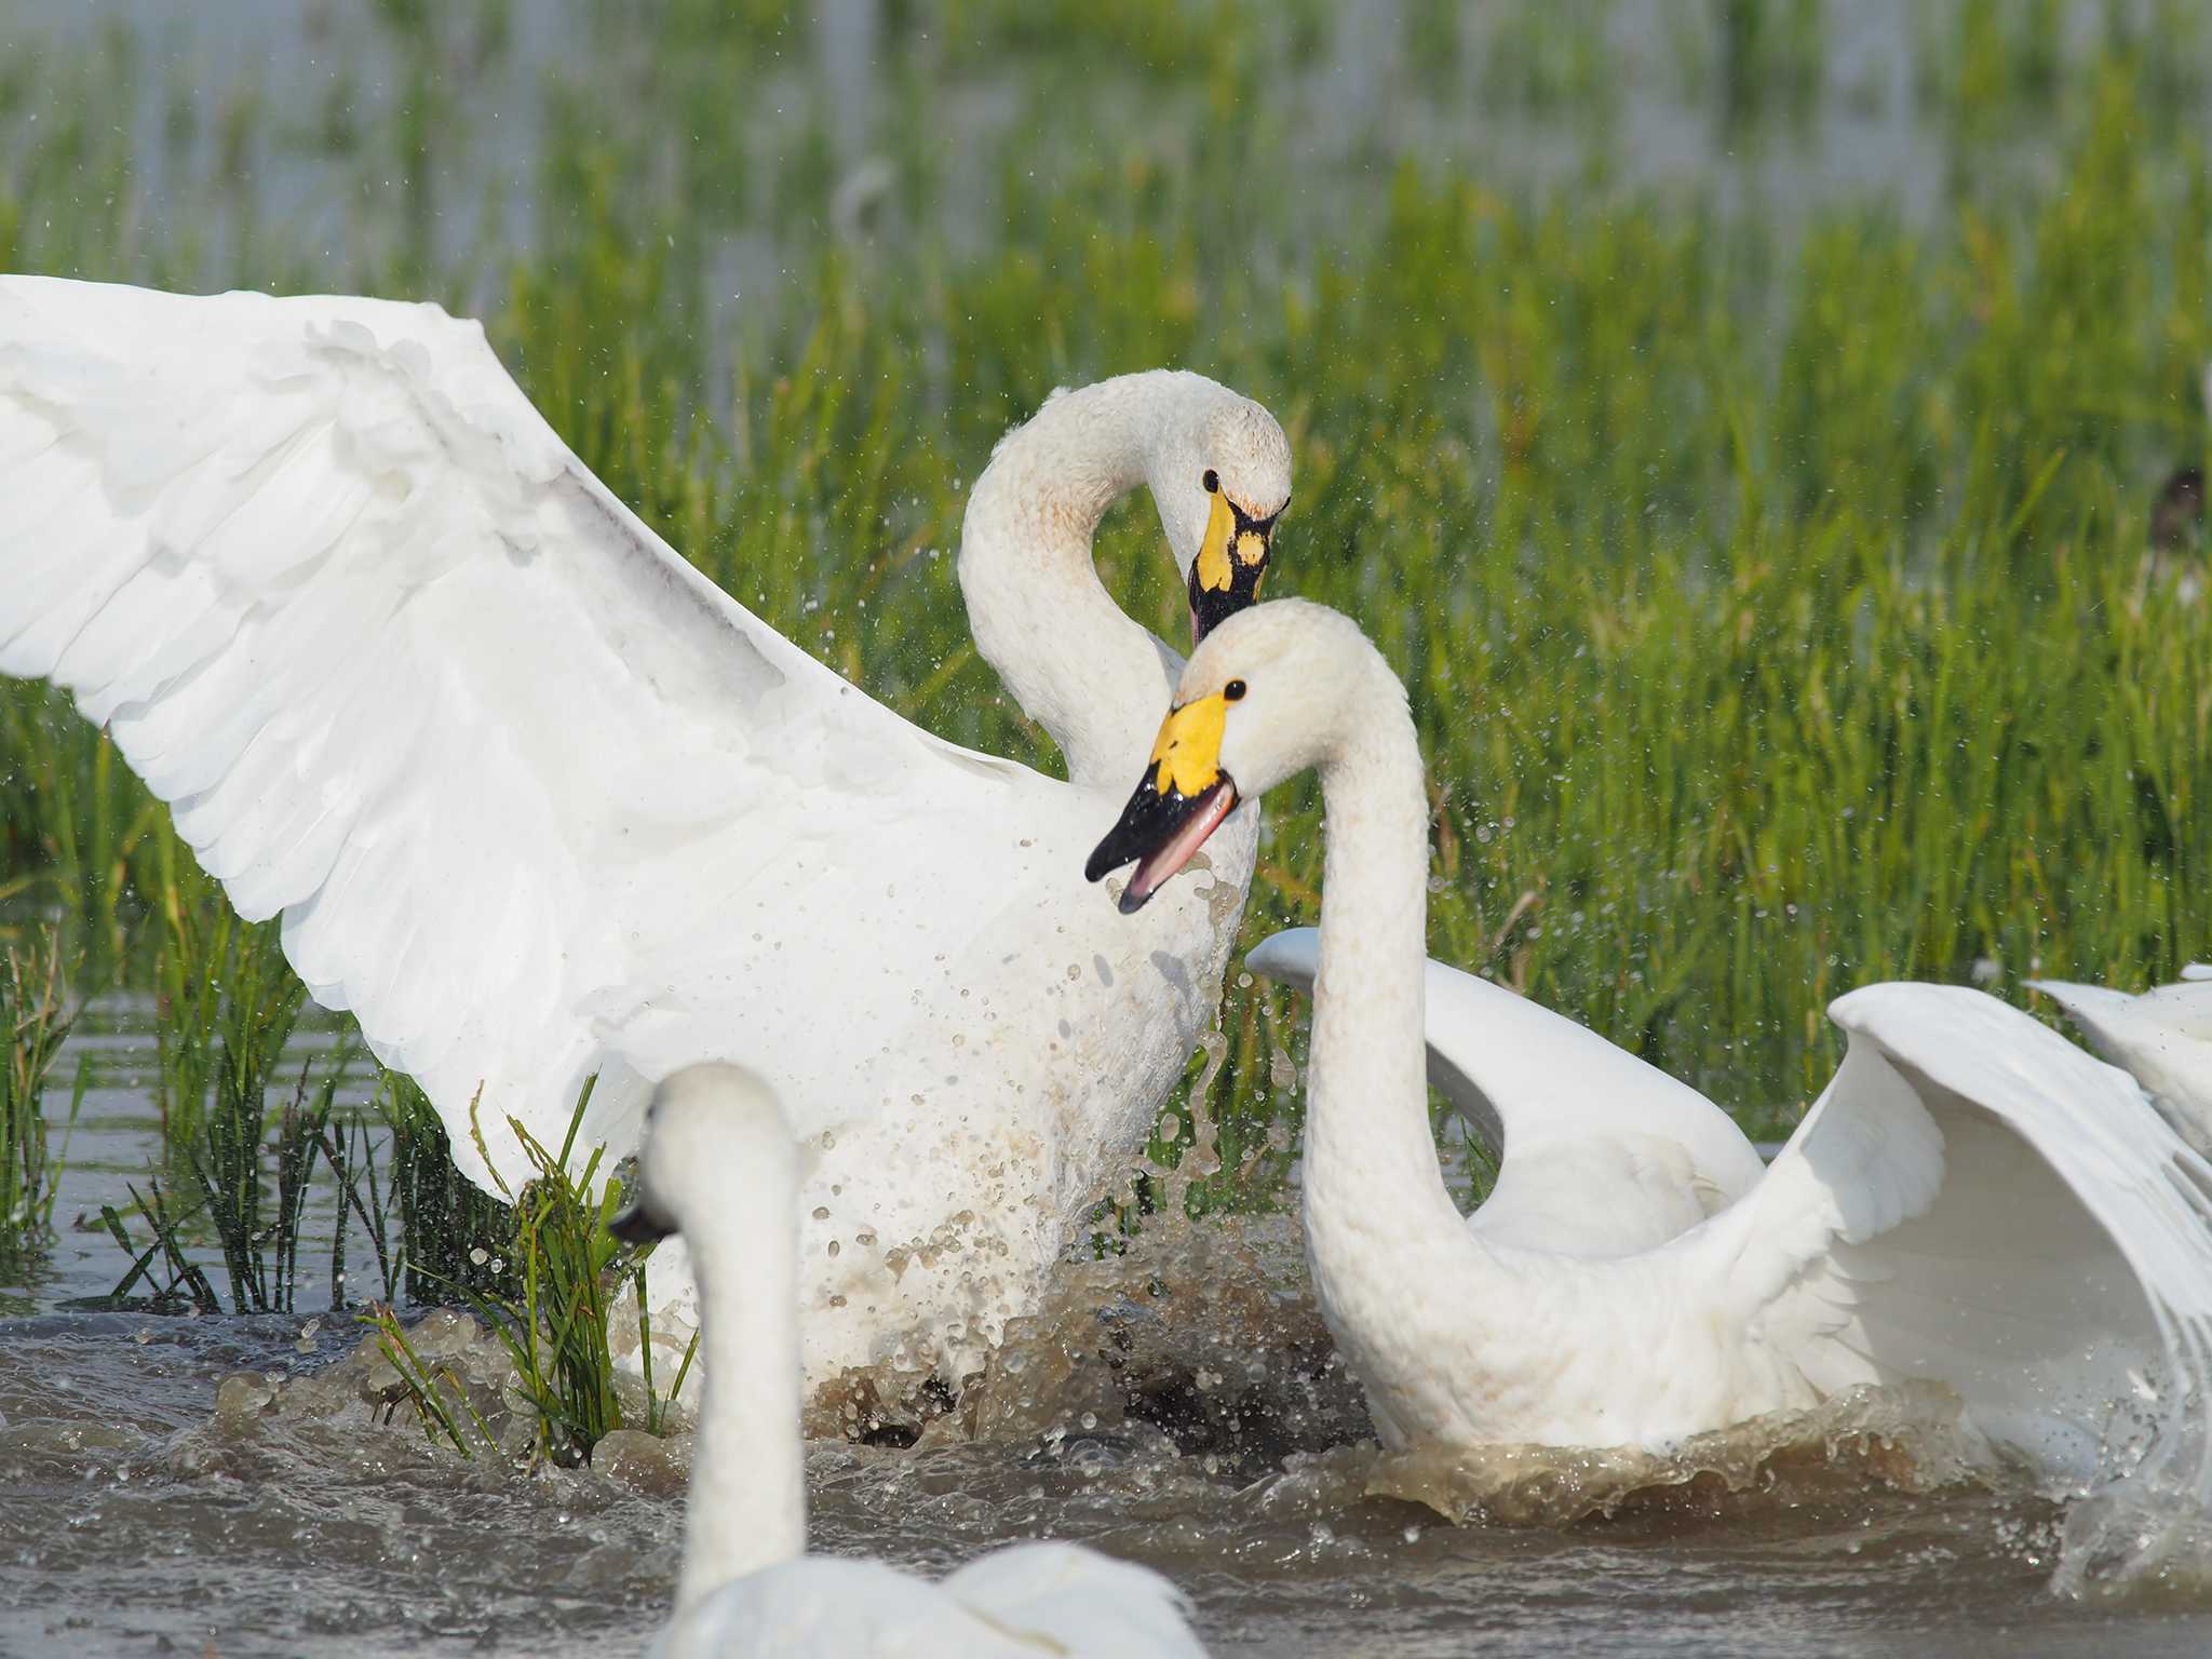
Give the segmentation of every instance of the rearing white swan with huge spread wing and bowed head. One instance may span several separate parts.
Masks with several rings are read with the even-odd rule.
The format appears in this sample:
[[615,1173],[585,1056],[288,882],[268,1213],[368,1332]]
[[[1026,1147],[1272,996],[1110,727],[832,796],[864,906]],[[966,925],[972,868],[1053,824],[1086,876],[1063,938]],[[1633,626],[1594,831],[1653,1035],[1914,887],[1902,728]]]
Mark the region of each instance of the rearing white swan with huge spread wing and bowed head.
[[[476,323],[0,279],[0,672],[73,690],[237,909],[283,911],[471,1179],[524,1172],[509,1117],[557,1146],[591,1073],[584,1135],[615,1155],[695,1060],[745,1053],[805,1102],[816,1380],[885,1352],[958,1380],[1212,1011],[1252,814],[1148,929],[1075,880],[1106,757],[1179,666],[1091,566],[1137,484],[1199,622],[1248,602],[1290,449],[1199,376],[1055,396],[969,504],[978,644],[1060,783],[714,588]],[[681,1272],[655,1290],[681,1301]]]

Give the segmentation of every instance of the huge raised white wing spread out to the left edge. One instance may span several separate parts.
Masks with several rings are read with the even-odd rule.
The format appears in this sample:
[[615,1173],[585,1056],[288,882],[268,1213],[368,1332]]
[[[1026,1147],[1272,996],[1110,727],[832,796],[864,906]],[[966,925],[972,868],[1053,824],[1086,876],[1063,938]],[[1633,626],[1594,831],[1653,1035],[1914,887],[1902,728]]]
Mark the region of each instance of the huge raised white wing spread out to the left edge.
[[637,1073],[712,1055],[754,911],[860,920],[856,818],[869,891],[958,883],[900,825],[1020,787],[717,591],[434,305],[0,279],[0,670],[75,692],[449,1124],[482,1084],[509,1177],[507,1113],[606,1068],[626,1144]]

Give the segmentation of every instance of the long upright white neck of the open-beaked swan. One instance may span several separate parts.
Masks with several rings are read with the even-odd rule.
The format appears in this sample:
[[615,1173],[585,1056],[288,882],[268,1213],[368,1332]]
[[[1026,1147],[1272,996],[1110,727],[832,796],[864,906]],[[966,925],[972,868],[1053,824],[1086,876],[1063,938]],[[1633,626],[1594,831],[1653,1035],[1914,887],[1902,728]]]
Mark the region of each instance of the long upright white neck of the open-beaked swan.
[[1425,982],[1429,803],[1389,686],[1354,710],[1356,750],[1323,763],[1327,856],[1305,1106],[1314,1290],[1391,1442],[1400,1409],[1464,1332],[1480,1248],[1444,1190],[1429,1128]]

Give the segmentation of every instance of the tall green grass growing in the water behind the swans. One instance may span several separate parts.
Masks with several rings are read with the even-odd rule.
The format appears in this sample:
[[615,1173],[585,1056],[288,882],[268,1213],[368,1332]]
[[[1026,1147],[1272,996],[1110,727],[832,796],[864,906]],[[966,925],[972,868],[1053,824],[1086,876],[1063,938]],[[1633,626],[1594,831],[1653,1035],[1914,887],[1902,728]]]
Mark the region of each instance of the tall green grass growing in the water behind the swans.
[[[546,93],[593,119],[544,133],[529,252],[440,252],[431,226],[476,204],[425,170],[420,115],[312,128],[332,177],[416,181],[363,188],[330,234],[257,219],[212,161],[148,215],[131,119],[77,113],[93,49],[0,71],[0,265],[482,312],[584,460],[741,602],[931,730],[1044,765],[969,646],[967,484],[1057,383],[1203,367],[1292,434],[1274,591],[1352,611],[1407,677],[1433,953],[1774,1130],[1834,1068],[1823,1006],[1854,984],[2024,1000],[2028,973],[2137,987],[2212,942],[2212,606],[2143,560],[2159,480],[2205,453],[2208,40],[2148,0],[2077,46],[2053,7],[1931,9],[1909,84],[1947,146],[1933,210],[1723,210],[1610,184],[1590,88],[1635,66],[1599,13],[1509,7],[1478,38],[1409,9],[1409,97],[1473,84],[1579,144],[1575,186],[1537,190],[1482,144],[1405,159],[1380,128],[1345,168],[1305,159],[1325,9],[889,7],[936,55],[894,53],[889,228],[854,243],[821,131],[726,119],[790,29],[670,4]],[[476,24],[409,15],[405,62],[458,77],[440,119],[465,122]],[[1798,144],[1836,18],[1712,4],[1659,73],[1734,142]],[[633,71],[653,100],[608,95]],[[975,246],[936,228],[962,179],[933,133],[993,73],[1033,144],[984,181]],[[1055,119],[1075,88],[1113,111],[1093,142]],[[177,119],[261,161],[307,142],[252,100]],[[794,274],[719,310],[732,228]],[[1099,562],[1179,637],[1148,504]],[[38,688],[0,692],[0,889],[144,978],[164,821]],[[1314,920],[1316,830],[1310,787],[1272,803],[1248,942]],[[1274,1190],[1301,1022],[1232,973],[1199,1203]]]

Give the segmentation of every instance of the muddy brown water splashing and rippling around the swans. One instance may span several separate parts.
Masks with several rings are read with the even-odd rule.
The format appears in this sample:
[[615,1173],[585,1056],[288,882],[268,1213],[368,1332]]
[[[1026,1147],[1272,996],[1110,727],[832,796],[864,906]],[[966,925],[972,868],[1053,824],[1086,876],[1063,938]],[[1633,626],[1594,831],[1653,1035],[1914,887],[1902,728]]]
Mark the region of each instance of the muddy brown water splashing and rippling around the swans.
[[[82,1024],[62,1241],[0,1285],[0,1655],[641,1648],[688,1433],[577,1471],[462,1462],[378,1409],[389,1374],[312,1270],[296,1314],[71,1305],[122,1267],[71,1223],[157,1146],[146,1018],[111,1000]],[[327,1203],[312,1219],[310,1261]],[[434,1312],[416,1340],[498,1398],[480,1332]],[[814,1427],[836,1422],[823,1400]],[[918,1444],[812,1440],[807,1484],[821,1551],[942,1571],[1051,1535],[1150,1562],[1217,1655],[2212,1652],[2203,1582],[2055,1595],[2064,1511],[1962,1449],[1940,1398],[1838,1405],[1692,1462],[1380,1458],[1294,1223],[1261,1217],[1071,1267]]]

